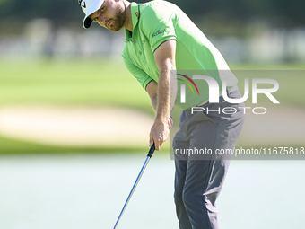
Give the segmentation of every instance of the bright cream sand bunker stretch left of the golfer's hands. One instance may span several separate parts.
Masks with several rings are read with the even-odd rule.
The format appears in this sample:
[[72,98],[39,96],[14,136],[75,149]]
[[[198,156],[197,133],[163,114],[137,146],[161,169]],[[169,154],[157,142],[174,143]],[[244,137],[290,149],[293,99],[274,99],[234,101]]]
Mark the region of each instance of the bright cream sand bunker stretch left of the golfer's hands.
[[0,134],[50,145],[147,143],[153,117],[135,110],[20,106],[0,109]]

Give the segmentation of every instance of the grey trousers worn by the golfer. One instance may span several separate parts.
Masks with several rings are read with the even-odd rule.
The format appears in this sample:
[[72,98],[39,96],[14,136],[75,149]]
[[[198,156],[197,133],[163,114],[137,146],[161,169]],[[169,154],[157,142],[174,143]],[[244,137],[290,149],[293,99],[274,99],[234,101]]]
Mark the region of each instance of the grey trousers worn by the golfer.
[[[238,99],[240,92],[231,92],[229,97]],[[219,103],[203,105],[203,111],[183,110],[180,115],[180,129],[173,139],[174,198],[180,229],[219,228],[215,201],[231,158],[220,152],[236,145],[244,122],[244,110],[239,107],[244,104],[231,104],[221,97]]]

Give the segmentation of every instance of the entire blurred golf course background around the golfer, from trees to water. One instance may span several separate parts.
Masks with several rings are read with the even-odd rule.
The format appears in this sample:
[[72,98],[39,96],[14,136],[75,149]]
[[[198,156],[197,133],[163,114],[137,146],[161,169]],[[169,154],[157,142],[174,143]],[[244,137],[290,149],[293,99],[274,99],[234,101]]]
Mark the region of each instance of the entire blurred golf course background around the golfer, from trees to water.
[[[237,146],[305,146],[304,1],[170,2],[221,51],[241,92],[244,78],[280,84],[281,104],[258,97],[267,114],[249,112]],[[0,228],[111,228],[144,163],[154,114],[120,57],[124,31],[84,30],[83,15],[76,0],[0,0]],[[304,165],[232,161],[222,228],[302,228]],[[120,228],[178,228],[173,176],[168,141]]]

